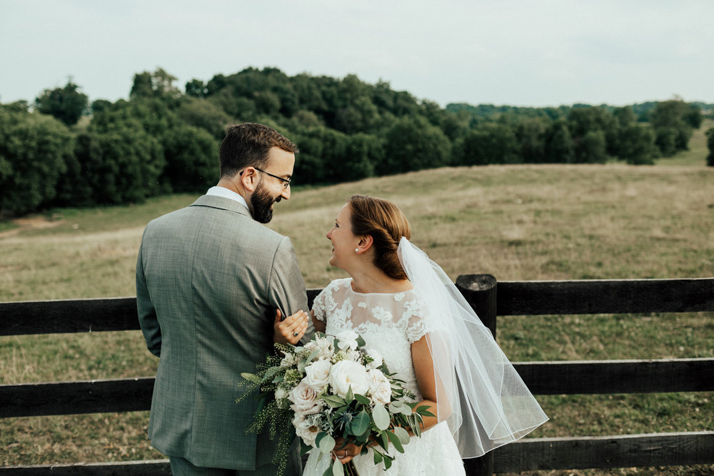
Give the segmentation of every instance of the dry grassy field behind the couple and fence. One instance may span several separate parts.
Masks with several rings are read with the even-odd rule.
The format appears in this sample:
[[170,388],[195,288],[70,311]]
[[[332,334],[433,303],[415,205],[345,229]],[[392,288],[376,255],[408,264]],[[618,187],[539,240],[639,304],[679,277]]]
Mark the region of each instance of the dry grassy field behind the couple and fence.
[[[681,160],[687,165],[678,165]],[[690,158],[666,166],[486,166],[296,188],[271,227],[291,236],[306,284],[327,264],[325,233],[345,198],[396,201],[413,241],[451,278],[498,280],[697,278],[714,275],[714,169]],[[296,177],[296,181],[299,178]],[[0,228],[0,300],[134,295],[141,232],[195,196],[140,206],[56,210]],[[514,361],[714,357],[712,313],[501,318]],[[141,333],[0,338],[0,383],[154,375]],[[714,430],[714,395],[538,397],[551,420],[534,437]],[[146,440],[147,412],[0,420],[0,464],[162,457]],[[714,467],[542,474],[704,475]]]

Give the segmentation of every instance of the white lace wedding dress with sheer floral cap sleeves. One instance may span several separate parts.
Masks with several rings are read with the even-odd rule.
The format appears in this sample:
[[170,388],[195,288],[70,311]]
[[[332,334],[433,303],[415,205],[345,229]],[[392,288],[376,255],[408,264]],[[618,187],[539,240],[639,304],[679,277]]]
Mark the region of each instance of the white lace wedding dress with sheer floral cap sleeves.
[[[368,348],[378,350],[389,371],[405,381],[404,387],[422,399],[411,360],[411,344],[429,330],[424,325],[423,305],[413,291],[396,294],[356,293],[351,278],[334,280],[315,299],[315,317],[326,322],[326,333],[336,335],[354,330],[366,341]],[[412,437],[396,455],[388,471],[383,463],[375,465],[372,450],[357,456],[355,466],[360,476],[370,475],[464,475],[463,463],[456,442],[446,422],[438,423]],[[331,465],[331,458],[311,451],[303,476],[321,476]]]

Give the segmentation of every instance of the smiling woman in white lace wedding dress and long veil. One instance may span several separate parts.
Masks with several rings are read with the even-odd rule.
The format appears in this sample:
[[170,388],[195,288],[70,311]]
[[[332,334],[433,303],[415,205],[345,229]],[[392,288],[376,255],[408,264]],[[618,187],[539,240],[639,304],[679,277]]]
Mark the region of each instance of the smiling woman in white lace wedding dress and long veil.
[[[327,238],[330,264],[351,278],[323,289],[311,315],[323,333],[362,335],[436,415],[424,417],[421,437],[412,437],[404,453],[392,453],[388,474],[463,475],[462,458],[517,440],[548,417],[446,273],[410,236],[391,201],[349,198]],[[333,458],[354,460],[361,476],[384,474],[371,449],[361,450],[338,440]],[[330,464],[313,451],[303,475],[322,475]]]

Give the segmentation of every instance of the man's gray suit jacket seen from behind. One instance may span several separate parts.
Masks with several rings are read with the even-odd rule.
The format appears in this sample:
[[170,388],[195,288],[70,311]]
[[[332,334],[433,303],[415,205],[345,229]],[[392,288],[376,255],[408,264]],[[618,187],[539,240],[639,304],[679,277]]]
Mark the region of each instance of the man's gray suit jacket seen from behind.
[[246,434],[257,400],[235,400],[241,372],[272,349],[275,309],[308,310],[291,241],[240,203],[202,196],[146,226],[136,303],[146,345],[161,358],[151,444],[201,467],[268,463],[273,442]]

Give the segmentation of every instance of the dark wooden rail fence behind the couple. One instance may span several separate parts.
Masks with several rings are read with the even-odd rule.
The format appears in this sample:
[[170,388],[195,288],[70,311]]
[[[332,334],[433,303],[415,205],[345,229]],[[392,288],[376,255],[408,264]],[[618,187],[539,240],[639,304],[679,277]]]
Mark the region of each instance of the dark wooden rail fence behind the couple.
[[[496,333],[496,315],[714,311],[714,278],[504,281],[456,285]],[[310,302],[319,290],[308,290]],[[0,303],[0,335],[136,330],[135,298]],[[514,363],[535,395],[714,390],[714,358]],[[0,418],[149,410],[154,378],[0,385]],[[714,464],[714,432],[526,438],[465,460],[468,475]],[[170,475],[168,460],[0,467],[0,475]]]

